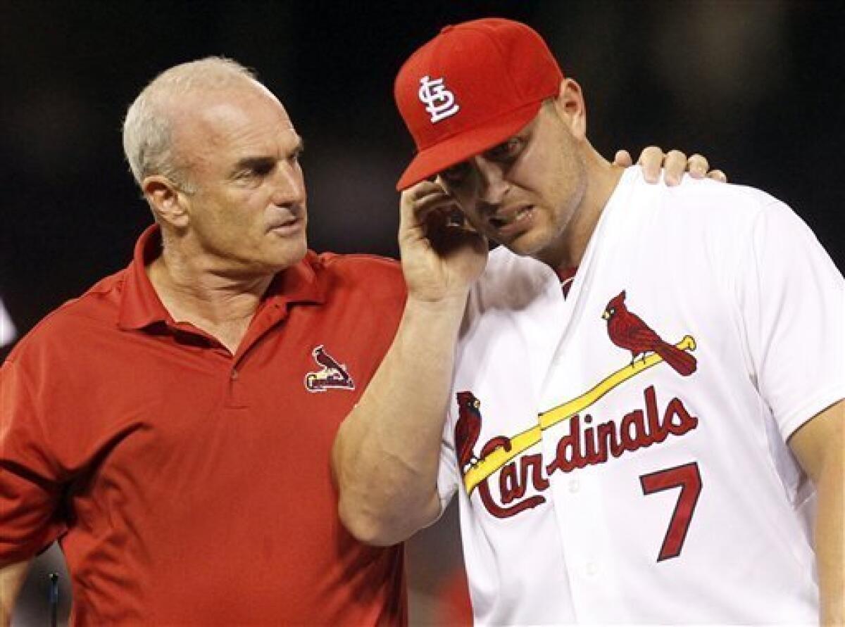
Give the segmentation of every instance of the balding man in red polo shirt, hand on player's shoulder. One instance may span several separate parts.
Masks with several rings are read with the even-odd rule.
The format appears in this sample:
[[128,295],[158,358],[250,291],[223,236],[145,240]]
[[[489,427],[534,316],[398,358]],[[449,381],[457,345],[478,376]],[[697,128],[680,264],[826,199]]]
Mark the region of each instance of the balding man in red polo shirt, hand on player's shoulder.
[[345,531],[329,463],[399,266],[307,251],[302,141],[237,63],[161,74],[124,148],[155,226],[0,370],[0,624],[56,539],[74,624],[404,623],[401,546]]

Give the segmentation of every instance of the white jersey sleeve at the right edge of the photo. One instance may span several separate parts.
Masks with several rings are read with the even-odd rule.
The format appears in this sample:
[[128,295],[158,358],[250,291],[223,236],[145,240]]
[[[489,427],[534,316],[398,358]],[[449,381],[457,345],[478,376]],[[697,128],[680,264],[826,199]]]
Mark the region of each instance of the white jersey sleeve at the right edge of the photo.
[[845,281],[786,204],[756,216],[739,268],[751,368],[784,440],[845,397]]

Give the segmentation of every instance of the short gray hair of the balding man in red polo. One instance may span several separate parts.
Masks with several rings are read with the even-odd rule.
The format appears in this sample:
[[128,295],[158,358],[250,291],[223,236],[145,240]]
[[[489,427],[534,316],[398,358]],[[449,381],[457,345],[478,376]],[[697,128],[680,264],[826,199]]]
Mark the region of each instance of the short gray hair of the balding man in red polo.
[[185,192],[194,192],[184,164],[173,150],[172,114],[167,101],[194,90],[221,90],[243,79],[256,80],[252,70],[225,57],[206,57],[165,70],[144,87],[123,120],[123,153],[135,181],[161,174]]

